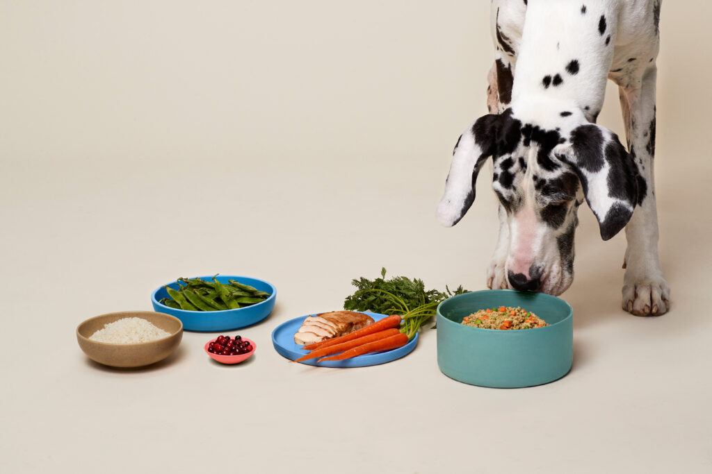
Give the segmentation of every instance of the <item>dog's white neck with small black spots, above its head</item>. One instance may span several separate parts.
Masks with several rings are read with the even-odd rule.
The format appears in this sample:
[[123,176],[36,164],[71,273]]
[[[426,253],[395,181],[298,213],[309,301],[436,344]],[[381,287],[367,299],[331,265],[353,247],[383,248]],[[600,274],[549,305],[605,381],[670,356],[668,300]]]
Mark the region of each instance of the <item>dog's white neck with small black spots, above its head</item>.
[[[528,5],[516,62],[512,103],[580,109],[595,122],[613,60],[617,2],[589,1],[572,18],[560,1]],[[521,107],[517,107],[520,109]]]

